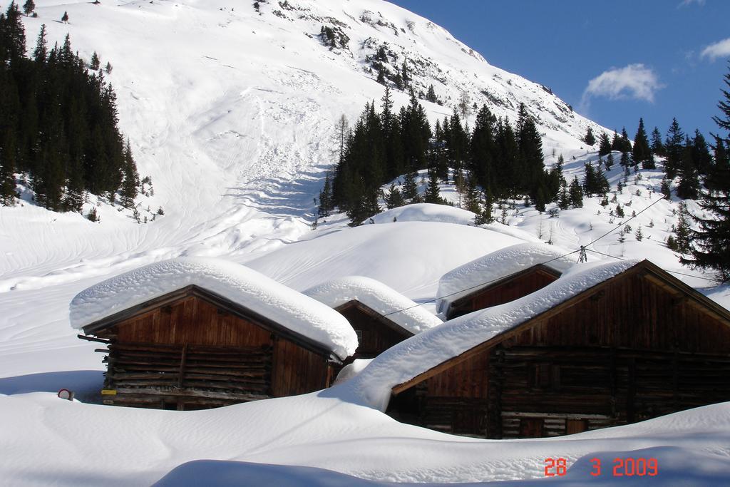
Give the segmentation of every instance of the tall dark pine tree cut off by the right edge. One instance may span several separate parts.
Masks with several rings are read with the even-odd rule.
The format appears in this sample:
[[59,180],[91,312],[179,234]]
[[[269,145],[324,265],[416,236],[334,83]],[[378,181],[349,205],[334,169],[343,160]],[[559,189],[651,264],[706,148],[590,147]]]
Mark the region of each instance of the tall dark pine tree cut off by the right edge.
[[[730,88],[730,73],[723,82]],[[715,164],[712,164],[704,184],[699,206],[709,218],[693,217],[699,229],[691,232],[696,242],[691,258],[683,258],[683,264],[712,269],[723,281],[730,280],[730,90],[721,90],[723,99],[718,102],[721,116],[712,117],[715,124],[726,131],[726,136],[715,136]]]

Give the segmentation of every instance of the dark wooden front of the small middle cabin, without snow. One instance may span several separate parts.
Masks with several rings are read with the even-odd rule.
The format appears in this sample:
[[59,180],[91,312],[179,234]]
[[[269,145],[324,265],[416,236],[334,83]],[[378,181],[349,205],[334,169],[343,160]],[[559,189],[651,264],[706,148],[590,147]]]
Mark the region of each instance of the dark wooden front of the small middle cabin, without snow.
[[345,364],[357,358],[377,357],[396,343],[413,336],[412,331],[355,299],[334,309],[347,318],[358,335],[358,349],[345,360]]

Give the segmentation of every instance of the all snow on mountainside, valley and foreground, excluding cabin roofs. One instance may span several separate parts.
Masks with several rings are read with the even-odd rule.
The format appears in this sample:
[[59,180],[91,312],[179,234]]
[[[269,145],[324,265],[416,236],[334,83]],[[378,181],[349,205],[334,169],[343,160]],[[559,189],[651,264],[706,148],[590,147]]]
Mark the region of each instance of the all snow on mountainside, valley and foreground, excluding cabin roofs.
[[[597,159],[596,147],[579,140],[585,129],[604,129],[539,84],[491,66],[444,29],[387,2],[270,0],[261,2],[261,15],[251,3],[37,0],[39,17],[23,18],[29,48],[46,23],[51,44],[68,32],[80,55],[91,58],[96,50],[102,64],[114,66],[108,79],[118,94],[120,129],[131,139],[140,174],[153,180],[154,195],[139,199],[142,210],[161,206],[165,214],[140,225],[99,203],[101,222],[91,223],[25,200],[0,207],[1,483],[145,485],[197,460],[209,462],[185,464],[167,485],[343,479],[295,467],[212,461],[319,467],[380,482],[518,480],[540,478],[545,458],[564,457],[575,465],[566,483],[603,485],[626,479],[610,475],[607,465],[615,456],[639,455],[609,452],[647,448],[640,454],[659,459],[660,475],[622,485],[670,485],[670,478],[719,485],[728,477],[728,404],[572,437],[518,441],[473,440],[396,423],[357,399],[351,389],[356,380],[318,394],[210,411],[87,404],[104,368],[95,345],[76,338],[69,303],[83,289],[138,266],[220,256],[297,291],[359,275],[433,312],[439,278],[457,266],[522,242],[550,240],[577,250],[622,221],[610,215],[614,202],[602,207],[593,198],[559,218],[515,202],[506,224],[485,228],[475,227],[465,210],[418,205],[354,229],[343,215],[333,215],[310,230],[312,198],[336,158],[337,119],[344,114],[354,123],[366,101],[383,94],[364,62],[383,42],[399,55],[398,63],[412,62],[417,88],[434,84],[445,101],[423,102],[432,121],[450,115],[462,91],[511,120],[524,101],[544,134],[546,163],[562,154],[569,180],[582,175],[584,161]],[[58,22],[64,11],[69,24]],[[328,50],[317,34],[321,26],[339,23],[349,48]],[[407,94],[393,93],[393,99],[399,107]],[[609,177],[615,188],[622,178],[618,164]],[[677,202],[657,202],[659,172],[634,178],[617,195],[623,220],[653,206],[631,221],[625,242],[615,232],[589,246],[605,255],[589,256],[651,258],[664,269],[698,276],[678,277],[730,306],[729,287],[712,287],[710,276],[681,267],[664,246]],[[453,185],[444,185],[442,195],[459,201]],[[501,209],[494,214],[501,220]],[[639,224],[640,242],[634,236]],[[82,402],[50,394],[62,387]],[[604,459],[602,478],[588,473],[594,456]]]

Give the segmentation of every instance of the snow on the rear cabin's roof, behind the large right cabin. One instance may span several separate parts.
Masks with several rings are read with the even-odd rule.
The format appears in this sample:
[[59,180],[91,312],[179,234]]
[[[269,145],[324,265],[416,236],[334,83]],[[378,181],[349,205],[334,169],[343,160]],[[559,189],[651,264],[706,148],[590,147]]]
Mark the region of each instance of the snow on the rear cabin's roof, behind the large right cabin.
[[450,304],[457,299],[538,264],[545,264],[562,274],[570,269],[576,260],[575,256],[558,258],[564,254],[566,251],[553,245],[527,242],[510,245],[475,258],[447,272],[439,279],[437,296],[440,297],[437,299],[436,309],[445,315]]

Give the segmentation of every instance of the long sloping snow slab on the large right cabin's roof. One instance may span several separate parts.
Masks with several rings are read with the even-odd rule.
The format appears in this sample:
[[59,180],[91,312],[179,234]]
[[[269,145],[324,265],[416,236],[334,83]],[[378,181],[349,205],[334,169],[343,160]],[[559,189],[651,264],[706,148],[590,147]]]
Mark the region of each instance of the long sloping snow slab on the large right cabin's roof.
[[367,404],[384,410],[393,387],[525,323],[638,263],[577,264],[558,280],[533,294],[454,318],[393,345],[374,358],[350,384]]

